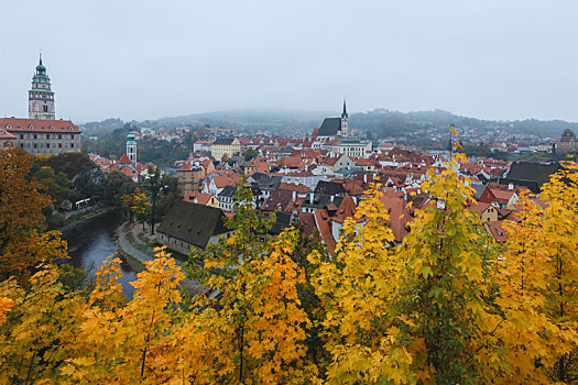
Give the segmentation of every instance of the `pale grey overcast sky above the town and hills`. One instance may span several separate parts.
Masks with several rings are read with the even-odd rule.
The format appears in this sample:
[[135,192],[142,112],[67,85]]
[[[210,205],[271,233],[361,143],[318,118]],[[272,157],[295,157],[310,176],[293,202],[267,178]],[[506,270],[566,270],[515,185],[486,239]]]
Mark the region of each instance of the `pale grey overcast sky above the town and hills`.
[[449,110],[578,121],[578,2],[83,0],[0,4],[0,116],[37,54],[57,118]]

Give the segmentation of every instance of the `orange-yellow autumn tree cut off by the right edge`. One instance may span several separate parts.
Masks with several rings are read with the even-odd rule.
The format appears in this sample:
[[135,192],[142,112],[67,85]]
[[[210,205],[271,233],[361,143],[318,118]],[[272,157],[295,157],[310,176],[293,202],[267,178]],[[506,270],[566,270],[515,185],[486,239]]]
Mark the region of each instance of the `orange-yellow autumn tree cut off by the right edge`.
[[510,367],[497,383],[578,381],[578,174],[572,163],[550,177],[539,197],[521,197],[505,226],[506,251],[497,261],[502,317],[495,336]]

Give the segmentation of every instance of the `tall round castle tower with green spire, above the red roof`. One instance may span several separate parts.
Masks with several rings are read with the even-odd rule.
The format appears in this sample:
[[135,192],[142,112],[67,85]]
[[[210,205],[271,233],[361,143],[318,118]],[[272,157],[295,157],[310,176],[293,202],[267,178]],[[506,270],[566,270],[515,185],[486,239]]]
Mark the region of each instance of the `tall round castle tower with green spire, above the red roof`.
[[51,78],[42,65],[42,55],[32,77],[32,89],[29,91],[29,119],[54,120],[54,92],[51,90]]

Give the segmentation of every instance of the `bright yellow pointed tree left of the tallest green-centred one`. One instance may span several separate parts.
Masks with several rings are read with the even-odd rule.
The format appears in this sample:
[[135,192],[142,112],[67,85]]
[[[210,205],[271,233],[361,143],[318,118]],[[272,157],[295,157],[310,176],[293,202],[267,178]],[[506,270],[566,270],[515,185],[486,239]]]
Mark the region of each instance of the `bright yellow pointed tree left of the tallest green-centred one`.
[[412,356],[395,342],[399,329],[390,304],[403,261],[395,254],[382,195],[374,188],[360,202],[331,261],[309,255],[317,265],[313,284],[326,310],[329,383],[415,382]]

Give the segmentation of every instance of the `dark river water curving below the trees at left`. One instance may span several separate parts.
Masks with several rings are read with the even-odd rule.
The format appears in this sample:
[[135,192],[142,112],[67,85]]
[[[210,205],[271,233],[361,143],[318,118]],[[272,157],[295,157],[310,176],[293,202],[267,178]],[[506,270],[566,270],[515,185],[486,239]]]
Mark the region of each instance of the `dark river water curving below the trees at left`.
[[[84,220],[66,230],[63,238],[68,242],[70,264],[88,271],[94,277],[102,261],[118,253],[114,231],[124,220],[122,211],[114,210]],[[129,283],[137,278],[137,274],[126,262],[121,264],[121,272],[122,290],[131,299],[134,288]]]

